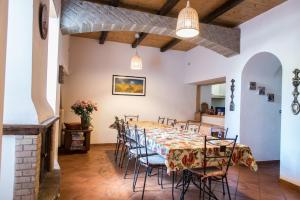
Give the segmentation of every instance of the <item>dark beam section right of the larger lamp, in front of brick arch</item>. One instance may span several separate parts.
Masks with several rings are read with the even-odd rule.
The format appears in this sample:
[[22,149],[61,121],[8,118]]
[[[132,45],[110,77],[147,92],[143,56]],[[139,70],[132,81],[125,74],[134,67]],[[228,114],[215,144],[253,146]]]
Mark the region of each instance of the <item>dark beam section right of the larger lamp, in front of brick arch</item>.
[[238,4],[242,3],[244,0],[228,0],[223,5],[218,7],[213,12],[209,13],[207,16],[203,17],[201,20],[202,23],[211,23],[214,21],[217,17],[223,15],[225,12],[231,10]]

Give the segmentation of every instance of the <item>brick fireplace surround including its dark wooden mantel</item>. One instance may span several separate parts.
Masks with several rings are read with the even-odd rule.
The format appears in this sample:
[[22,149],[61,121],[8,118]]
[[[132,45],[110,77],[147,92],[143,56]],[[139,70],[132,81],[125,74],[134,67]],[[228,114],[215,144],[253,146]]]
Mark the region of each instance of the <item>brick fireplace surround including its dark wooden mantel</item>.
[[[54,163],[54,126],[58,117],[51,117],[41,124],[35,125],[7,125],[3,126],[4,135],[15,136],[15,177],[14,177],[14,200],[35,200],[41,199],[41,196],[45,194],[45,187],[42,185],[48,184],[47,179],[51,179],[53,182],[53,177],[59,179],[59,165]],[[50,131],[50,132],[49,132]],[[45,156],[42,150],[42,138],[43,135],[49,132],[51,134],[50,143],[50,155],[49,159],[49,173],[44,176],[43,182],[40,180],[41,171],[41,157]],[[51,175],[51,172],[55,172],[55,175]],[[55,180],[58,185],[56,187],[59,190],[59,180]],[[41,184],[41,185],[40,185]],[[47,185],[49,186],[49,185]],[[51,189],[51,186],[47,188]],[[53,194],[53,199],[55,196],[59,196],[59,191],[55,191],[57,194]],[[46,193],[49,192],[46,191]]]

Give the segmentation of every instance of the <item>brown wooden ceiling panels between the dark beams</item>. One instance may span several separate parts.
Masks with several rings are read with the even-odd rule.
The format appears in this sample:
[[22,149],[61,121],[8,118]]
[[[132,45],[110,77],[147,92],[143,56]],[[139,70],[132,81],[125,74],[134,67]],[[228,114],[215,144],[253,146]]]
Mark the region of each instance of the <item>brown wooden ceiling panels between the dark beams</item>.
[[[100,3],[105,5],[118,6],[122,8],[149,12],[153,14],[159,14],[163,6],[168,0],[83,0],[94,3]],[[169,0],[170,1],[170,0]],[[217,12],[218,8],[224,7],[227,4],[234,2],[233,5],[227,7],[226,12]],[[236,27],[267,10],[283,3],[286,0],[190,0],[191,6],[195,8],[199,14],[200,22],[205,22],[206,18],[214,12],[217,12],[217,17],[213,17],[213,20],[208,20],[210,24],[216,24],[224,27]],[[175,3],[174,3],[175,2]],[[175,5],[175,6],[174,6]],[[174,6],[166,14],[162,14],[170,17],[177,17],[179,11],[186,6],[186,0],[173,0]],[[78,33],[72,34],[76,37],[84,37],[99,40],[102,32],[90,32],[90,33]],[[128,31],[111,31],[106,33],[106,41],[115,41],[127,44],[133,44],[135,41],[135,32]],[[166,44],[173,41],[174,38],[165,35],[147,34],[147,36],[141,40],[141,46],[150,46],[162,48]],[[188,41],[178,41],[170,49],[188,51],[197,46],[195,43]]]

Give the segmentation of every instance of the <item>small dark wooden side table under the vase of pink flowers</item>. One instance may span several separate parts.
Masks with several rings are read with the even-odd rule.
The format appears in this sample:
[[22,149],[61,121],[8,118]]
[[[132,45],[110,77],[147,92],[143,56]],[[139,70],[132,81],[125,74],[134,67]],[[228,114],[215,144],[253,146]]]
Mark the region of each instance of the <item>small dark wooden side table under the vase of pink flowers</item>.
[[63,129],[64,131],[64,148],[67,152],[86,153],[90,150],[90,138],[92,129]]

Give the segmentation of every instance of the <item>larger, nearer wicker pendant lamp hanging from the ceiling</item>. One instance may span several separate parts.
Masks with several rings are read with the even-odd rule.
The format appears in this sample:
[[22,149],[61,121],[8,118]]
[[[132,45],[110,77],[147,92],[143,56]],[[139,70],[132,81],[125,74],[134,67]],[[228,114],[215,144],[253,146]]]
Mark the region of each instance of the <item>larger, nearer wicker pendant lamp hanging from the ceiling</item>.
[[179,12],[176,35],[182,38],[192,38],[199,35],[199,17],[194,8],[187,1],[186,7]]

